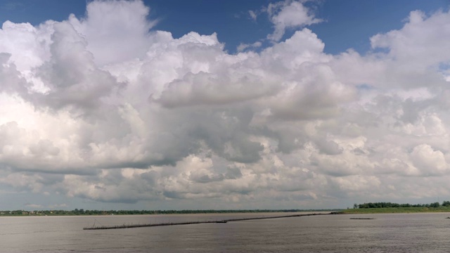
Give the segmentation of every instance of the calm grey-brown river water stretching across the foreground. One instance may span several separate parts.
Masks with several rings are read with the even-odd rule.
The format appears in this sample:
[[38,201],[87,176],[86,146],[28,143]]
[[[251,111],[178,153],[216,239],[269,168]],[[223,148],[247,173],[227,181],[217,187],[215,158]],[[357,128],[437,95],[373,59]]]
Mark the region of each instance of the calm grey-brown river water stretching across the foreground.
[[[0,217],[0,252],[450,252],[450,216],[368,214],[83,231],[277,214]],[[350,220],[373,217],[373,220]]]

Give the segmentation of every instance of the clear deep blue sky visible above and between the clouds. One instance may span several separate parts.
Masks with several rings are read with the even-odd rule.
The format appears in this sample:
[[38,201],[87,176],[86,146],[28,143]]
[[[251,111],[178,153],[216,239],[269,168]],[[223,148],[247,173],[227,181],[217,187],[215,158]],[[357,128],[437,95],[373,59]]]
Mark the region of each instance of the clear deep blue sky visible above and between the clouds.
[[[89,2],[89,1],[87,1]],[[272,30],[267,15],[250,19],[248,11],[259,11],[271,1],[221,1],[221,0],[145,0],[150,7],[150,19],[158,19],[155,30],[172,32],[181,37],[188,32],[212,34],[217,32],[226,50],[236,52],[240,43],[251,44],[264,39]],[[326,44],[326,53],[340,53],[354,48],[359,53],[370,50],[369,37],[400,28],[410,11],[433,13],[445,11],[449,0],[344,0],[311,1],[308,6],[324,22],[309,27]],[[2,0],[0,22],[30,22],[38,25],[45,20],[65,20],[70,13],[82,18],[86,10],[85,0]],[[294,30],[286,32],[285,37]]]

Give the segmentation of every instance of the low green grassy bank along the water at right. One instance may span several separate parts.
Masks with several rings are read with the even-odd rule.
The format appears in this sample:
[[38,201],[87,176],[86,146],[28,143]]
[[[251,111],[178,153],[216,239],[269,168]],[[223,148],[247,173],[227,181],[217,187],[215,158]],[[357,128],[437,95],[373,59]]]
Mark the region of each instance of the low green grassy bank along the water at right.
[[420,212],[450,212],[450,207],[387,207],[387,208],[356,208],[345,209],[340,214],[397,214]]

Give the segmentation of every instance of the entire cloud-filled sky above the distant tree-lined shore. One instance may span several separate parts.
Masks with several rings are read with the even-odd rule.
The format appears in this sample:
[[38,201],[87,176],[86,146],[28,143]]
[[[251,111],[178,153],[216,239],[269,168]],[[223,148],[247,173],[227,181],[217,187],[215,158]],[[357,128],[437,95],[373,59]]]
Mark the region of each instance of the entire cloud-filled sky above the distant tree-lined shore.
[[0,209],[450,200],[450,1],[0,1]]

